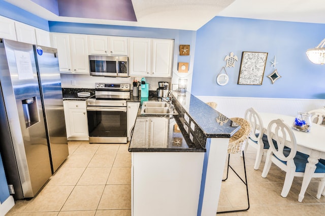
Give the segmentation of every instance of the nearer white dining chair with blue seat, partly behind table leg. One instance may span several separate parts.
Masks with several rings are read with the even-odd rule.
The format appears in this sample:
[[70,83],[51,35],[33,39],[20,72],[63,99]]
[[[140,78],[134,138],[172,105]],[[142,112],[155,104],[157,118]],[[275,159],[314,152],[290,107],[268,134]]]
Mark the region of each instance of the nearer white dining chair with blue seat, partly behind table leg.
[[[270,148],[267,153],[262,177],[267,177],[272,163],[284,170],[286,175],[281,196],[286,197],[289,193],[294,177],[304,176],[305,167],[308,163],[308,155],[297,151],[296,137],[291,127],[281,119],[275,119],[269,123],[267,136]],[[274,146],[274,141],[277,144],[277,148]],[[315,172],[312,176],[312,178],[322,178],[318,185],[317,198],[320,197],[325,187],[324,177],[325,165],[317,163]]]

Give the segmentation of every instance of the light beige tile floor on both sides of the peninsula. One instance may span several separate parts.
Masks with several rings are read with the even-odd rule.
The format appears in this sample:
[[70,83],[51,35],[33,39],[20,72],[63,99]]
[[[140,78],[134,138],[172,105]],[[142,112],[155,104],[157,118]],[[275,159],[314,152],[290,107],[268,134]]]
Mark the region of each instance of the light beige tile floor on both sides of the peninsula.
[[[127,148],[127,144],[69,142],[68,159],[43,190],[29,201],[18,200],[7,215],[131,215],[131,154]],[[317,179],[312,180],[303,202],[298,202],[302,178],[294,179],[283,198],[285,172],[272,166],[268,177],[262,178],[265,156],[254,170],[255,156],[249,147],[245,154],[249,210],[217,215],[325,215],[325,197],[316,199]],[[240,154],[231,155],[231,164],[244,177]],[[221,186],[218,210],[245,208],[245,193],[245,185],[230,170]]]

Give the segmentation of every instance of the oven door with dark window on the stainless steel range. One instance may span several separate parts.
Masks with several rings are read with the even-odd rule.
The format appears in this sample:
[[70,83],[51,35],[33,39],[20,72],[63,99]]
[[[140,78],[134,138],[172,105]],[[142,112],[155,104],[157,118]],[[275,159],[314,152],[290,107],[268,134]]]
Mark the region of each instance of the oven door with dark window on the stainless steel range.
[[87,106],[89,143],[127,143],[126,107]]

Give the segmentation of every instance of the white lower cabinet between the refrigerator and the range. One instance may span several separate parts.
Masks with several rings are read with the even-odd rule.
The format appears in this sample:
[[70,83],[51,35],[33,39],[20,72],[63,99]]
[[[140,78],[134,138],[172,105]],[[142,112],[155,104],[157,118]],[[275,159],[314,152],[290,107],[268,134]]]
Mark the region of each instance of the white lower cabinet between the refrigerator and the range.
[[89,140],[86,101],[63,101],[68,140]]

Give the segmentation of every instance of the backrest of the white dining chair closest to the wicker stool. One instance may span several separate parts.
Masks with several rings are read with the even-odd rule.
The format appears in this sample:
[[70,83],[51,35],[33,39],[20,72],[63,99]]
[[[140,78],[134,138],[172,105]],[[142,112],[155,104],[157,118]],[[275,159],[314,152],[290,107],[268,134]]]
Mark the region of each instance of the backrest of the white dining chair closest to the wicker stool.
[[[250,135],[250,139],[252,139],[255,142],[261,140],[265,132],[261,116],[259,116],[256,110],[251,107],[245,111],[245,119],[250,123],[252,127],[252,133]],[[258,134],[257,137],[256,134]]]

